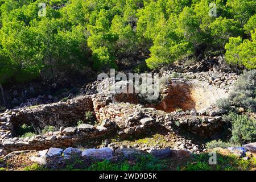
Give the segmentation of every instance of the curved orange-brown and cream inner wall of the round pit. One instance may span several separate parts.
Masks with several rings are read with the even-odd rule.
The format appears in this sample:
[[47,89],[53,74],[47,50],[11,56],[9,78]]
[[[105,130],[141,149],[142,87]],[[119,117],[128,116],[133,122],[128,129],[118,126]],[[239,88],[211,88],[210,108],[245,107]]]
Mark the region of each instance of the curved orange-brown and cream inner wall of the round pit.
[[168,113],[176,109],[202,110],[216,100],[228,97],[226,90],[210,86],[207,82],[175,78],[172,78],[163,92],[163,100],[159,104],[147,106]]

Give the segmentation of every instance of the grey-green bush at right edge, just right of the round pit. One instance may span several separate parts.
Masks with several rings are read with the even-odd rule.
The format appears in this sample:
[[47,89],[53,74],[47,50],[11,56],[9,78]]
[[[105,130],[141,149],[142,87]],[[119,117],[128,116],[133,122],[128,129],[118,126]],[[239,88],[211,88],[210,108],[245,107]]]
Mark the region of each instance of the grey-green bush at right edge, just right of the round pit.
[[231,106],[243,107],[249,111],[256,111],[256,70],[243,73],[238,77],[229,97],[219,100],[216,105],[230,110]]

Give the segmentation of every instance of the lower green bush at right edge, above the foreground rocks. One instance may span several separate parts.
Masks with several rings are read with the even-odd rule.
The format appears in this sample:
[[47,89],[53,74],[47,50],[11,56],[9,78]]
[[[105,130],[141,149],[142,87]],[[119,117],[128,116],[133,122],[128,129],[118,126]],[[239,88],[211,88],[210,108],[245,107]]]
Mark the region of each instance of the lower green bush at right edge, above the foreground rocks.
[[232,138],[230,142],[236,144],[255,142],[256,120],[247,115],[230,113],[225,117],[232,124]]

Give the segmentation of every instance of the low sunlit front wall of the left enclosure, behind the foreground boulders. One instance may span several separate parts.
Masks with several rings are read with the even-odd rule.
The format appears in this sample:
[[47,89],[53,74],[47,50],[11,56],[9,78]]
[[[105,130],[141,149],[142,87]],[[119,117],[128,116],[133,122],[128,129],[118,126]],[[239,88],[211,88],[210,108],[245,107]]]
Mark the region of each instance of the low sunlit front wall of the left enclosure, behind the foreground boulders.
[[36,135],[30,138],[8,138],[0,145],[7,153],[20,150],[44,150],[49,147],[69,147],[89,139],[96,139],[112,133],[115,127],[82,124],[78,127],[61,127],[60,131]]

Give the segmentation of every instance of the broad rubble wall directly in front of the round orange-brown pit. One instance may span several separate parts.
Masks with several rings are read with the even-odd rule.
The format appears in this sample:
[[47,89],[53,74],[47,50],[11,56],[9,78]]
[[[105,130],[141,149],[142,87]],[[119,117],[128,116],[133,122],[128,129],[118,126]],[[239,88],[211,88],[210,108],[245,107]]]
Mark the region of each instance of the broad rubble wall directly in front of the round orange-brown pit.
[[165,113],[141,105],[120,103],[101,107],[97,112],[100,120],[110,118],[120,129],[120,135],[137,134],[150,125],[159,125],[168,129],[177,128],[191,131],[202,138],[212,137],[227,124],[222,119],[225,110],[204,110]]

